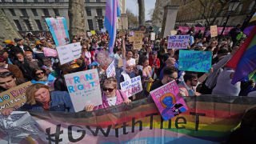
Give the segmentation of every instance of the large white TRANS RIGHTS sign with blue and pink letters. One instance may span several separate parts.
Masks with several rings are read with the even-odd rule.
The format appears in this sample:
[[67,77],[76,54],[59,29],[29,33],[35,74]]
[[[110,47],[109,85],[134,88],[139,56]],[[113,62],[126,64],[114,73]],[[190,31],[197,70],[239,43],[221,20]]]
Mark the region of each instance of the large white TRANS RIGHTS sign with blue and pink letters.
[[97,69],[66,74],[64,77],[75,112],[84,110],[89,104],[94,104],[94,106],[102,104]]

